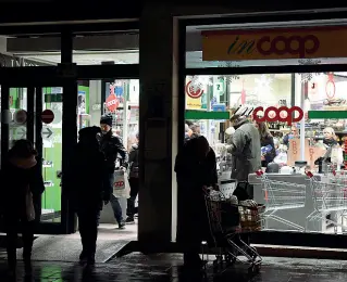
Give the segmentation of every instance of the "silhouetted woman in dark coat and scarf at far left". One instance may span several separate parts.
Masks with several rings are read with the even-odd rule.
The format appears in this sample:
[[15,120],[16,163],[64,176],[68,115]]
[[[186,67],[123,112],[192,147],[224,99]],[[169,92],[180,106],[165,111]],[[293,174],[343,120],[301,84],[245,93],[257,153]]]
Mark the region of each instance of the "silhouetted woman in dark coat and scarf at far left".
[[0,206],[7,231],[8,264],[15,275],[17,233],[23,235],[25,273],[32,274],[32,249],[35,225],[40,220],[40,198],[45,191],[37,152],[28,140],[18,140],[9,151],[1,169]]

